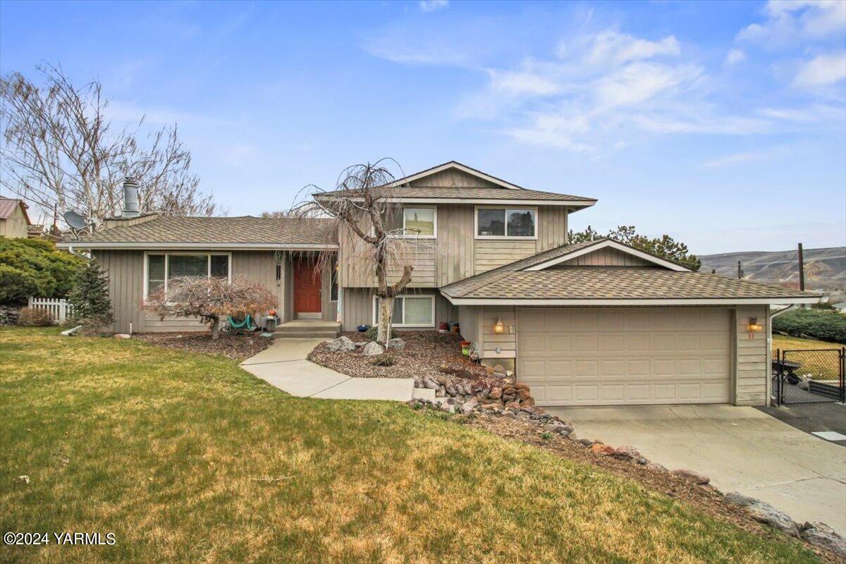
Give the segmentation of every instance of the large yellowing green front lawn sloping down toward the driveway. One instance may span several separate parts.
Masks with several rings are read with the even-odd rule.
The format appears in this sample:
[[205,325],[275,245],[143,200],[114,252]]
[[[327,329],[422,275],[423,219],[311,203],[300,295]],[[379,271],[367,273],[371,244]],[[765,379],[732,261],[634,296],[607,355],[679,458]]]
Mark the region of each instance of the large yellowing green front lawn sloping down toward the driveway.
[[54,329],[0,347],[3,532],[117,538],[2,561],[816,561],[403,405],[299,399],[227,359]]

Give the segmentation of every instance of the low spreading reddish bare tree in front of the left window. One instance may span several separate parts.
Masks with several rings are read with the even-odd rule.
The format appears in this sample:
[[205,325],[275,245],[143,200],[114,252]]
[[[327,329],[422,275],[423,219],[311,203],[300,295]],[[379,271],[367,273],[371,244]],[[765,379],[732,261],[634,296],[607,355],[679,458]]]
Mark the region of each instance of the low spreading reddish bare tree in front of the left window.
[[159,315],[198,316],[211,326],[211,339],[217,339],[220,320],[244,317],[275,308],[276,295],[258,282],[235,278],[184,277],[168,282],[168,293],[160,287],[147,299],[144,308]]

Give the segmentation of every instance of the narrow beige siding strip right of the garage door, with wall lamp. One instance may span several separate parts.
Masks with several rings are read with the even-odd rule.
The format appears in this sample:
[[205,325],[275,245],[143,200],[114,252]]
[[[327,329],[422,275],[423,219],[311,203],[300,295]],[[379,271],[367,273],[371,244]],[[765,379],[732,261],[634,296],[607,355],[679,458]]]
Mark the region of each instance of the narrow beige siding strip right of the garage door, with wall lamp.
[[[749,318],[756,317],[763,331],[749,332]],[[770,375],[770,348],[766,306],[744,306],[735,310],[734,405],[766,405],[766,382]]]

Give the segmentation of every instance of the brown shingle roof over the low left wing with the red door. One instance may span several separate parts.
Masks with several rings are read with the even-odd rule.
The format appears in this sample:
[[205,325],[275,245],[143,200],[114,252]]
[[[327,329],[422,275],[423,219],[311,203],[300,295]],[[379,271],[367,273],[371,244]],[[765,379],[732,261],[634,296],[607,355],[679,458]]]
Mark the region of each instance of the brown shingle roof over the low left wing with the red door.
[[332,225],[320,218],[159,216],[85,235],[74,244],[337,244]]

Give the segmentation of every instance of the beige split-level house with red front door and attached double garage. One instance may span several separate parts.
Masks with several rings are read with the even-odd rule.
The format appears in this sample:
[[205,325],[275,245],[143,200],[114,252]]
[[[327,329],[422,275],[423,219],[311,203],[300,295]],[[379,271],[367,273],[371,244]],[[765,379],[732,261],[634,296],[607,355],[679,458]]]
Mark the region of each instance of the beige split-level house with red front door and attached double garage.
[[[541,406],[766,405],[771,308],[819,299],[690,271],[609,239],[569,244],[569,215],[596,200],[525,189],[458,162],[396,185],[392,203],[419,241],[395,326],[459,321],[482,362],[514,370]],[[349,230],[329,229],[322,219],[133,211],[60,246],[91,249],[107,269],[116,331],[130,323],[135,331],[201,328],[139,309],[179,275],[249,277],[275,288],[283,328],[291,320],[334,323],[333,331],[373,325],[375,279],[351,260]],[[315,271],[316,252],[332,253],[334,266]]]

